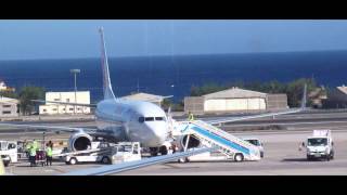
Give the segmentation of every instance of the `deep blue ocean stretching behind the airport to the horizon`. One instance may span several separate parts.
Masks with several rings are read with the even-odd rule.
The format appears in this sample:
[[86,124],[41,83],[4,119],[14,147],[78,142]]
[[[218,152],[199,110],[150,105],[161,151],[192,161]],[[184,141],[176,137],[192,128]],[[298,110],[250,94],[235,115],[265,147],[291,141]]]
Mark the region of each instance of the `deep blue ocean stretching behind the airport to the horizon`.
[[[77,89],[102,99],[100,58],[0,61],[0,79],[17,90],[39,86],[47,91],[74,90],[69,69],[79,68]],[[174,95],[180,101],[192,86],[232,81],[292,81],[313,77],[318,84],[347,84],[347,51],[245,53],[180,56],[110,57],[111,80],[117,96],[131,92]]]

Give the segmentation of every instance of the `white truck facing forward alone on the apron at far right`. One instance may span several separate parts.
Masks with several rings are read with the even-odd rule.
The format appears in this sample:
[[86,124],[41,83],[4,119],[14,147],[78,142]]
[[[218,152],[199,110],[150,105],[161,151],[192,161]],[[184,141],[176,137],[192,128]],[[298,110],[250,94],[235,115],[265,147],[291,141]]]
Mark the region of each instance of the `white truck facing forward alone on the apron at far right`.
[[331,130],[313,130],[312,136],[309,136],[306,143],[307,159],[323,158],[331,160],[334,158],[334,142]]

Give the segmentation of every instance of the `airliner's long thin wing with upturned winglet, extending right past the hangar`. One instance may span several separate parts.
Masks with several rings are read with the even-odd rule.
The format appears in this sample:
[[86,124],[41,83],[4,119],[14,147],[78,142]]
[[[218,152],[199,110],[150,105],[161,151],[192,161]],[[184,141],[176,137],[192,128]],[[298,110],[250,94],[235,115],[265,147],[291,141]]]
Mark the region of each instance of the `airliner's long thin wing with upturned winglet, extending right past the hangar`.
[[283,112],[278,112],[278,113],[266,113],[266,114],[260,114],[260,115],[250,115],[250,116],[243,116],[243,117],[224,117],[224,118],[219,118],[219,119],[213,119],[213,120],[204,120],[207,123],[210,125],[220,125],[220,123],[226,123],[226,122],[233,122],[233,121],[240,121],[240,120],[247,120],[247,119],[255,119],[255,118],[264,118],[264,117],[272,117],[272,116],[278,116],[278,115],[285,115],[285,114],[294,114],[294,113],[300,113],[306,109],[306,94],[307,93],[307,84],[304,86],[304,93],[303,93],[303,100],[301,100],[301,106],[300,108],[295,108],[295,109],[286,109]]

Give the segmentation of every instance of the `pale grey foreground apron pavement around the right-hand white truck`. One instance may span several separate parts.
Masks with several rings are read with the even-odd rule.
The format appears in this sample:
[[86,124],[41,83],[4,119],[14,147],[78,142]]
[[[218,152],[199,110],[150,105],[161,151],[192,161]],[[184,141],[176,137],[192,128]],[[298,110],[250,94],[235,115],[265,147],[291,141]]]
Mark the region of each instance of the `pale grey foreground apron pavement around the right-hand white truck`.
[[[254,176],[254,174],[347,174],[347,130],[333,131],[335,140],[335,159],[331,161],[307,161],[305,151],[298,151],[299,143],[311,134],[303,132],[262,132],[236,133],[240,136],[257,136],[265,143],[265,158],[260,161],[204,161],[168,162],[154,165],[117,174],[154,174],[154,176]],[[53,162],[51,167],[29,167],[27,161],[7,168],[10,174],[61,174],[73,170],[95,168],[102,165],[65,165]]]

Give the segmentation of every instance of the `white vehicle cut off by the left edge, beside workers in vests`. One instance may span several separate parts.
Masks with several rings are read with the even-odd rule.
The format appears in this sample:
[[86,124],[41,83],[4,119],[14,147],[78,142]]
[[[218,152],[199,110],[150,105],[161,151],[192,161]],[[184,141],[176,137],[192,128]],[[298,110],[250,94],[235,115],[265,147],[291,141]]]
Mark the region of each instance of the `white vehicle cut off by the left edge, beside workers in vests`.
[[5,167],[10,162],[17,162],[18,152],[16,141],[0,141],[0,156]]

